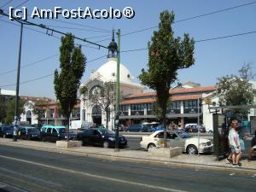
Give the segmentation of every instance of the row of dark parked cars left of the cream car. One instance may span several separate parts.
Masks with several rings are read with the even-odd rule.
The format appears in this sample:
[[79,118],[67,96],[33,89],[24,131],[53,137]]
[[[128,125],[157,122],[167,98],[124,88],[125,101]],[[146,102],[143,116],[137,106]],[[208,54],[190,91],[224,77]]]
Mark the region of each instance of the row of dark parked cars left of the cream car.
[[[80,140],[83,145],[96,145],[104,148],[114,147],[115,132],[104,127],[84,129],[82,131],[70,131],[70,140]],[[13,137],[13,125],[1,125],[0,137]],[[17,137],[27,140],[41,140],[43,142],[55,142],[67,139],[67,128],[63,125],[44,125],[40,129],[32,126],[19,126]],[[119,135],[119,146],[125,148],[127,140]]]

